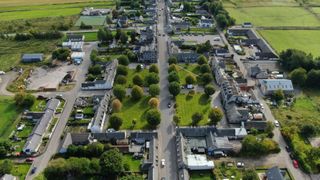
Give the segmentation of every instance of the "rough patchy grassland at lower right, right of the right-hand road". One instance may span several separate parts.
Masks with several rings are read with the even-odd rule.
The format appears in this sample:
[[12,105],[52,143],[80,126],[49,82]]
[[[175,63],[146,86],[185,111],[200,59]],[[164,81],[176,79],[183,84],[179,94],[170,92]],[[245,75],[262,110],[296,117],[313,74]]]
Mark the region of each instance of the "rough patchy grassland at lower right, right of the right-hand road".
[[[292,107],[272,108],[272,113],[282,126],[285,137],[291,140],[294,152],[298,160],[303,160],[310,170],[319,173],[316,168],[316,159],[310,155],[311,145],[303,138],[299,130],[304,124],[311,124],[320,128],[320,91],[304,90],[304,94],[299,95]],[[301,161],[300,161],[301,164]],[[301,165],[301,167],[303,167]]]

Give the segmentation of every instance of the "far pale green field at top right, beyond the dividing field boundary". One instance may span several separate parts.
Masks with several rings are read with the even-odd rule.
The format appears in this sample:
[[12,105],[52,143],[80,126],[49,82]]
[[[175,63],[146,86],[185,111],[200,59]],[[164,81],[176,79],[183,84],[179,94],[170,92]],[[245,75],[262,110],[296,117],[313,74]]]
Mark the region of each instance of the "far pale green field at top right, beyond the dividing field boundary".
[[236,24],[251,22],[254,26],[319,26],[320,21],[301,7],[226,8]]

